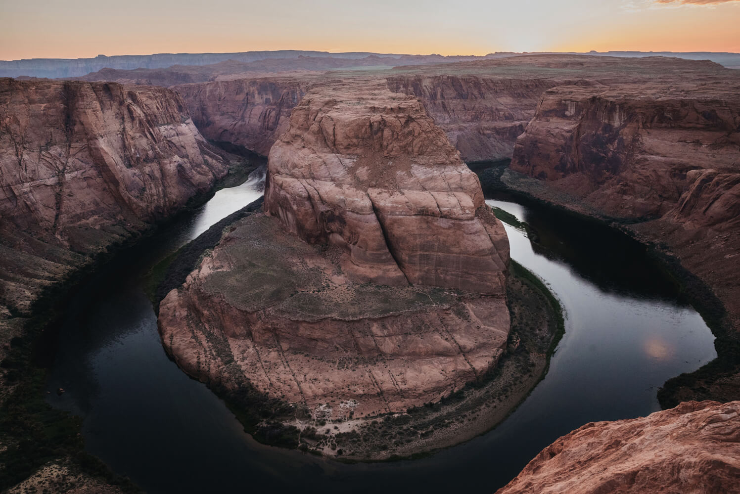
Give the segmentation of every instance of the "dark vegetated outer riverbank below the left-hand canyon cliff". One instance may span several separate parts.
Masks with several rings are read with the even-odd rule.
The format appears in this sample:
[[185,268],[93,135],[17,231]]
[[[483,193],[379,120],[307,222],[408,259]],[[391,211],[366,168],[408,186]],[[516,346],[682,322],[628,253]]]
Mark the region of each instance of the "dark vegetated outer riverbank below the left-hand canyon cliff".
[[121,257],[135,256],[159,231],[192,214],[218,189],[231,186],[235,177],[246,180],[262,164],[254,158],[232,160],[229,175],[209,192],[192,197],[177,214],[133,231],[74,268],[64,280],[46,288],[27,314],[14,314],[16,317],[0,321],[1,336],[7,341],[0,354],[0,491],[25,479],[31,481],[34,476],[29,487],[47,482],[49,488],[60,491],[88,486],[94,493],[106,486],[112,489],[110,492],[139,492],[127,478],[113,474],[100,460],[85,453],[79,417],[47,403],[47,393],[55,391],[47,390],[47,365],[55,355],[58,323],[78,288],[105,266]]

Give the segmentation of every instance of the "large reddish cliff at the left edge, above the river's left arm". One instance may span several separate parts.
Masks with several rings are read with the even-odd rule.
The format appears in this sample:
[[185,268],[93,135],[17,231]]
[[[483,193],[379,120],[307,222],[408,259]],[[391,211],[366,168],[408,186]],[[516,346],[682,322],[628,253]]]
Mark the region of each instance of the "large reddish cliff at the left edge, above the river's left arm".
[[27,310],[226,170],[169,89],[0,79],[0,303]]

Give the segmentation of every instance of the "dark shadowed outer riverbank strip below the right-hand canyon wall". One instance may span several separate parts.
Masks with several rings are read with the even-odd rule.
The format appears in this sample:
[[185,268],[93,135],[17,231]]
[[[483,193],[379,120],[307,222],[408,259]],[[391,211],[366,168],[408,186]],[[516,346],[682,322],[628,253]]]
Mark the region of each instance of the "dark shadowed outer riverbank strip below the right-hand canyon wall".
[[[692,373],[684,373],[667,380],[658,391],[663,409],[675,407],[679,402],[705,399],[729,402],[740,399],[740,333],[736,322],[728,314],[724,303],[716,295],[710,282],[684,266],[684,261],[667,243],[656,240],[647,232],[654,228],[654,218],[625,219],[611,217],[576,197],[548,188],[536,180],[496,163],[478,171],[484,193],[506,192],[520,200],[559,209],[566,214],[598,221],[632,237],[647,246],[647,253],[659,261],[680,287],[682,296],[699,311],[711,329],[715,340],[717,358]],[[665,228],[665,227],[664,227]],[[665,231],[665,230],[664,230]]]

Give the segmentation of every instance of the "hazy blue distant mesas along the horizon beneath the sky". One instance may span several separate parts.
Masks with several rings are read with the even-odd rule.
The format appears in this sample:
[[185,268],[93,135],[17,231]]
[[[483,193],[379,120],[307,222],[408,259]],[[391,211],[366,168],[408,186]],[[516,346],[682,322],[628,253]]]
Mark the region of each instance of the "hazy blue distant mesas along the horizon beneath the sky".
[[[550,52],[542,52],[550,53]],[[476,55],[404,55],[400,53],[329,53],[302,50],[252,51],[240,53],[157,53],[153,55],[98,55],[95,58],[31,58],[23,60],[0,61],[0,77],[45,77],[72,78],[98,72],[102,69],[133,70],[161,69],[174,65],[201,66],[218,64],[224,61],[237,61],[249,64],[256,61],[275,59],[299,59],[310,57],[330,58],[324,64],[314,64],[307,69],[306,60],[295,62],[295,69],[290,70],[332,70],[351,67],[369,67],[374,65],[417,65],[440,64],[445,62],[470,61],[485,58],[502,58],[505,56],[523,55],[525,53],[497,52],[484,56]],[[610,51],[583,53],[584,55],[610,55],[619,57],[673,56],[689,60],[711,60],[724,67],[740,68],[740,53],[712,52],[634,52]],[[374,60],[378,58],[378,60]],[[380,60],[382,59],[382,60]],[[339,62],[337,62],[339,60]],[[352,61],[357,61],[353,63]],[[376,63],[377,62],[377,63]],[[290,64],[288,64],[290,65]],[[269,70],[270,71],[270,70]]]

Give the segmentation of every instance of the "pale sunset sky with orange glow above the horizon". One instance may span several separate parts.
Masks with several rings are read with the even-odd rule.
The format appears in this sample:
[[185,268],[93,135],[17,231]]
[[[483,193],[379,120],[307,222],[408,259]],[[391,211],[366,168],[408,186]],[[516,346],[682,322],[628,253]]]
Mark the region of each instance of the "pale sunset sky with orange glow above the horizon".
[[740,0],[0,0],[0,60],[283,49],[740,53]]

